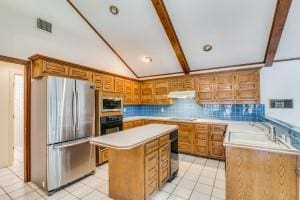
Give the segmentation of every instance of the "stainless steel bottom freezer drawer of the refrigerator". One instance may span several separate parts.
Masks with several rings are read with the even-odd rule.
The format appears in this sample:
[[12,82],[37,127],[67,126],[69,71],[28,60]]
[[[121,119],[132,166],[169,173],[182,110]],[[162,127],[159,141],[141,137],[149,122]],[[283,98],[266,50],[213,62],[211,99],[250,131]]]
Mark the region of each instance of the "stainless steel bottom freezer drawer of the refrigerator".
[[48,191],[75,181],[95,170],[95,147],[82,139],[48,146]]

